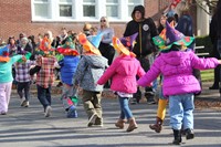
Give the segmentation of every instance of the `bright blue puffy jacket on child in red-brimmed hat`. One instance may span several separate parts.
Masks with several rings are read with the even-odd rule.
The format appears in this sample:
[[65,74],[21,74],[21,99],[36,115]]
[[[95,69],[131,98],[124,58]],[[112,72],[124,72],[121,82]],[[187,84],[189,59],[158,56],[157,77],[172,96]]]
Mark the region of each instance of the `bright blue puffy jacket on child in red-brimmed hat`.
[[67,85],[73,85],[73,75],[75,74],[80,56],[65,55],[63,60],[59,62],[61,66],[61,80]]

